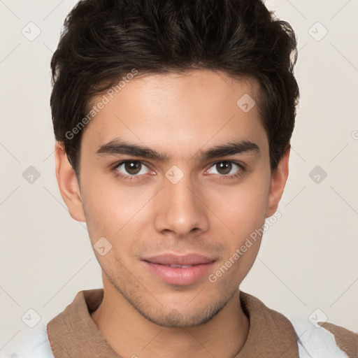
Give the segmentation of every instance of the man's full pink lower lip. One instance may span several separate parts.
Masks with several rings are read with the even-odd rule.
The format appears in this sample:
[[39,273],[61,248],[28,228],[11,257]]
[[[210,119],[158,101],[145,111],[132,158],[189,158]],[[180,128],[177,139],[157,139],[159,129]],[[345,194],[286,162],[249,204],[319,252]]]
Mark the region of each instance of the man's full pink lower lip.
[[143,261],[145,266],[164,282],[171,285],[190,285],[210,273],[215,262],[199,264],[187,268],[171,267],[152,262]]

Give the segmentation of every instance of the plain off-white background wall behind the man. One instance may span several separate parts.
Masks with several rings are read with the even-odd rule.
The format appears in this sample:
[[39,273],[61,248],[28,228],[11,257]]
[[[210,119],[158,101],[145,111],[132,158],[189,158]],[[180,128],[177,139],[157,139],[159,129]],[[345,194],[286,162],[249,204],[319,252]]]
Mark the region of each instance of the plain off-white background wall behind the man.
[[[69,216],[55,178],[49,63],[74,3],[0,0],[0,355],[77,292],[102,287],[85,224]],[[241,289],[289,317],[327,316],[358,331],[358,1],[266,5],[299,37],[301,102],[282,217]],[[40,174],[32,183],[29,166]],[[41,317],[34,328],[29,309]]]

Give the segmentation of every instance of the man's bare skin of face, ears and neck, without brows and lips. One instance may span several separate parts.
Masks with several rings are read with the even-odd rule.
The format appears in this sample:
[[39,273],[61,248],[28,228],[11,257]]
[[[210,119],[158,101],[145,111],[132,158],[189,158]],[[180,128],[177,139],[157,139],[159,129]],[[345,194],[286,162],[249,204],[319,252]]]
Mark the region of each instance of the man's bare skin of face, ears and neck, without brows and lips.
[[[275,213],[289,150],[271,172],[258,106],[244,113],[236,105],[243,94],[257,99],[258,93],[253,78],[234,80],[209,70],[137,76],[85,127],[80,185],[56,143],[57,182],[71,217],[87,222],[92,245],[103,236],[112,245],[104,256],[94,250],[104,297],[91,317],[122,357],[208,357],[210,352],[229,358],[245,343],[249,320],[238,287],[255,262],[261,238],[216,282],[206,275],[191,285],[171,285],[150,273],[141,258],[196,252],[215,257],[210,271],[215,273]],[[117,137],[170,160],[96,154]],[[195,159],[233,138],[256,143],[259,152]],[[136,178],[115,175],[134,173],[124,165],[113,169],[124,159],[145,164]],[[220,169],[226,161],[245,170],[236,164]],[[176,184],[165,176],[173,165],[183,173]],[[241,175],[227,178],[236,173]]]

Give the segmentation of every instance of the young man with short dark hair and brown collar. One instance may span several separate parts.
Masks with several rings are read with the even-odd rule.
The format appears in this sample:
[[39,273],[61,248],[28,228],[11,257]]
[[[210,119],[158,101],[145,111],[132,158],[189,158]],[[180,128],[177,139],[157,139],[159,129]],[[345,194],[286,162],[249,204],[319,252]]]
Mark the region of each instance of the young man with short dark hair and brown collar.
[[17,357],[358,357],[357,334],[238,289],[287,180],[295,62],[260,0],[78,3],[51,63],[56,176],[103,289]]

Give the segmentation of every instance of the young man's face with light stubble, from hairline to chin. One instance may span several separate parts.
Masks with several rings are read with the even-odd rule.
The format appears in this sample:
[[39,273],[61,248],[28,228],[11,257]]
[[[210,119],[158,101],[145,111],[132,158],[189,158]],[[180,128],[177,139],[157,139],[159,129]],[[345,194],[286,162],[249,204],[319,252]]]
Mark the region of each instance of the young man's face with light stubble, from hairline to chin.
[[286,159],[271,173],[257,105],[236,103],[258,93],[254,79],[206,70],[138,76],[85,127],[80,189],[62,196],[92,245],[101,238],[105,291],[151,322],[208,321],[255,261],[261,238],[247,240],[287,178]]

